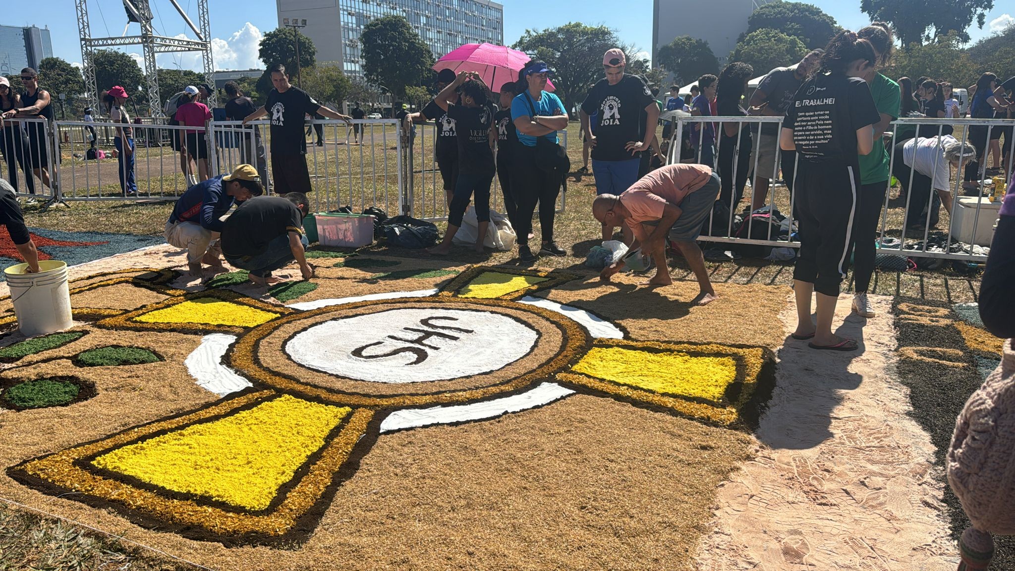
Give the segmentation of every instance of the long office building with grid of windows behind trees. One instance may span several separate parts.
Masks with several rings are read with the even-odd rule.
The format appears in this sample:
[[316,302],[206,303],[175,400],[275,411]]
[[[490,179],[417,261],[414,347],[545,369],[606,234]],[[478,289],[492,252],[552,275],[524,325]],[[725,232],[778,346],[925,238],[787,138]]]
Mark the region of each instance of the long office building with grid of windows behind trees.
[[362,77],[359,35],[370,19],[405,16],[434,59],[463,44],[503,44],[503,6],[489,0],[276,0],[278,25],[306,20],[317,61],[341,62],[349,77]]

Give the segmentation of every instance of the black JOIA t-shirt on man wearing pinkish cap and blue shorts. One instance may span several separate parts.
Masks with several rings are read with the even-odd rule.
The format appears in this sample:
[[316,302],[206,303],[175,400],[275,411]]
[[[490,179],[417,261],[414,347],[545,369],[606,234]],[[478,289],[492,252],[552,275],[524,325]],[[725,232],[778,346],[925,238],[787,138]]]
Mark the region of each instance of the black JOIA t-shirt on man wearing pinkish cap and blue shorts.
[[592,157],[596,161],[627,161],[636,158],[624,147],[630,141],[640,141],[638,125],[641,111],[656,105],[652,91],[644,81],[633,75],[624,75],[616,84],[610,85],[604,77],[589,91],[582,104],[592,120],[597,115],[596,146]]

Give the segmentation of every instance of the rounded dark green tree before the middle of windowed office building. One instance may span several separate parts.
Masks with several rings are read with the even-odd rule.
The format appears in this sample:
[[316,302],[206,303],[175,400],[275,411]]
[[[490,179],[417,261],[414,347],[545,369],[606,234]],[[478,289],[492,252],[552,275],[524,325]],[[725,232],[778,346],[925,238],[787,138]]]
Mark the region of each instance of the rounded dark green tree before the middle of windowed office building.
[[429,82],[433,53],[403,16],[375,18],[359,35],[366,79],[386,86],[397,99],[407,85]]

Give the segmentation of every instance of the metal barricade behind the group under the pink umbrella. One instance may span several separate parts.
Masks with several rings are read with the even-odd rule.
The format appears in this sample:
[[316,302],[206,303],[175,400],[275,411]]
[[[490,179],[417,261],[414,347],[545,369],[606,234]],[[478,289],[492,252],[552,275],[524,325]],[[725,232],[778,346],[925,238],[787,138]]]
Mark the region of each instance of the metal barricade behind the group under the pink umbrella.
[[[403,212],[424,220],[438,221],[448,219],[448,202],[444,190],[444,177],[437,167],[434,143],[437,137],[437,125],[433,122],[415,125],[416,135],[403,139],[407,150],[406,172],[406,204]],[[558,131],[560,144],[567,148],[567,130]],[[411,143],[411,144],[410,144]],[[535,167],[533,167],[535,168]],[[490,209],[499,210],[502,204],[500,178],[493,177],[490,187]],[[563,212],[567,204],[567,181],[557,202],[557,213]]]

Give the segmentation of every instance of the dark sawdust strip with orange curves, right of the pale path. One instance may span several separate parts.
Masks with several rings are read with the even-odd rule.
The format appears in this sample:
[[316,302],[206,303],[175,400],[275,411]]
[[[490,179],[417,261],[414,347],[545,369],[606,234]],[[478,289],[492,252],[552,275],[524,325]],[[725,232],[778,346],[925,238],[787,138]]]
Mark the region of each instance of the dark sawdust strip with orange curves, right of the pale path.
[[[900,308],[900,305],[903,307]],[[943,308],[946,311],[937,314],[941,321],[932,325],[912,319],[912,306]],[[912,403],[909,416],[931,435],[931,442],[936,448],[935,464],[941,468],[936,470],[936,478],[944,489],[951,535],[957,542],[962,530],[969,526],[969,519],[945,480],[945,456],[955,431],[955,419],[969,395],[983,384],[982,375],[990,374],[993,368],[988,368],[992,365],[996,367],[998,362],[978,357],[975,355],[977,352],[966,345],[959,330],[949,324],[949,321],[962,321],[962,316],[946,303],[898,298],[892,305],[892,311],[898,328],[898,374],[902,384],[909,388],[909,401]],[[913,348],[917,351],[913,352]],[[937,361],[913,359],[915,353]],[[1015,569],[1015,537],[995,535],[994,543],[997,551],[991,570]]]

